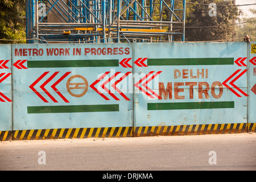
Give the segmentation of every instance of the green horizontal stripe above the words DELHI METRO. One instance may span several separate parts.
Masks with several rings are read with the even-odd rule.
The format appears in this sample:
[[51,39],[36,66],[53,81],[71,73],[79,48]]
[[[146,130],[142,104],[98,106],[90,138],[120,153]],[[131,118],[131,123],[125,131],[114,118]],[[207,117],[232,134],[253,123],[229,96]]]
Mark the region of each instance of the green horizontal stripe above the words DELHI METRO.
[[234,64],[234,58],[174,58],[174,59],[147,59],[148,66],[172,65],[226,65]]

